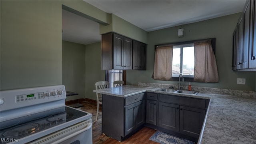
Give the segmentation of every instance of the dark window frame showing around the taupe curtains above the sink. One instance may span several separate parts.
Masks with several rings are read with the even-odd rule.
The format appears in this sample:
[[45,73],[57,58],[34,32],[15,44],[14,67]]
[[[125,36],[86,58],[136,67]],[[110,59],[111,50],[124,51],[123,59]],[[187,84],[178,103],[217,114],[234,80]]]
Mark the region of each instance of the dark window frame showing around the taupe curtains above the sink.
[[[157,44],[157,45],[155,45],[155,52],[156,52],[156,48],[158,48],[159,46],[178,46],[178,45],[185,45],[185,44],[191,44],[191,43],[194,44],[195,42],[202,42],[202,41],[206,41],[206,40],[211,40],[212,49],[213,49],[213,52],[215,55],[216,38],[206,38],[206,39],[201,39],[201,40],[190,40],[190,41],[183,41],[183,42],[171,42],[171,43],[166,43],[166,44]],[[178,81],[179,77],[172,76],[172,80]],[[184,81],[193,82],[194,77],[184,77]]]

